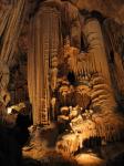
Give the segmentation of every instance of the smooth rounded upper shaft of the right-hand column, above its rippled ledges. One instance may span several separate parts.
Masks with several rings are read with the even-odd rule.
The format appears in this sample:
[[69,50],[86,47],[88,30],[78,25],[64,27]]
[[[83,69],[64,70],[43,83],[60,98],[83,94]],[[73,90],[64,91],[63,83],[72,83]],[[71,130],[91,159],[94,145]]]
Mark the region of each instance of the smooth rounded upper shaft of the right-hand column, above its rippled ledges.
[[111,83],[104,40],[100,23],[96,19],[87,19],[84,24],[84,35],[89,43],[89,71],[100,72]]

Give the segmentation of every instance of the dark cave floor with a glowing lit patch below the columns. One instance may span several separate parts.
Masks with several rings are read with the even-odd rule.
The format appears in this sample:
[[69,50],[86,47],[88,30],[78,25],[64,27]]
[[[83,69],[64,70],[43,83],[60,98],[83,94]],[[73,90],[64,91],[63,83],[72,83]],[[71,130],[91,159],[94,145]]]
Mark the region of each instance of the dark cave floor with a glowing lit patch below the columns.
[[[74,156],[60,154],[54,147],[46,147],[45,143],[37,142],[34,147],[23,147],[24,166],[123,166],[124,143],[117,142],[99,148],[82,149]],[[114,163],[113,163],[114,162]]]

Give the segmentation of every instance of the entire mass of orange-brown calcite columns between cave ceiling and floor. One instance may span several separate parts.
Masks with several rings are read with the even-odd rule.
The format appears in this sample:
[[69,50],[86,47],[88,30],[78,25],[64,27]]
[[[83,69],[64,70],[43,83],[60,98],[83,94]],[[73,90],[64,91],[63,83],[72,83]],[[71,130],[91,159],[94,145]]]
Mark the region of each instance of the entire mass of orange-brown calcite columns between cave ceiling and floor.
[[0,102],[29,102],[68,154],[124,136],[124,25],[86,2],[0,2]]

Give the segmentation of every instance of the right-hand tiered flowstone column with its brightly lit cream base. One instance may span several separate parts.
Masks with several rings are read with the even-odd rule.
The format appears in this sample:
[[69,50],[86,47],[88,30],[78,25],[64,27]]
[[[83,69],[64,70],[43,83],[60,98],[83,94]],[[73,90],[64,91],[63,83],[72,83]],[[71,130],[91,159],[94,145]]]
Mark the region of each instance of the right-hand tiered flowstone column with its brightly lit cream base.
[[[80,111],[76,108],[73,120],[70,118],[69,113],[71,129],[65,127],[68,133],[62,133],[59,137],[56,149],[63,153],[73,154],[89,141],[94,139],[96,144],[97,138],[101,139],[101,144],[123,138],[124,117],[117,113],[102,29],[99,21],[91,15],[84,22],[84,35],[89,44],[87,53],[74,54],[72,51],[74,49],[71,46],[68,51],[69,71],[73,71],[75,75],[75,105],[80,107]],[[116,68],[121,63],[121,60],[116,60],[118,58],[115,54]],[[123,73],[122,63],[116,72]]]

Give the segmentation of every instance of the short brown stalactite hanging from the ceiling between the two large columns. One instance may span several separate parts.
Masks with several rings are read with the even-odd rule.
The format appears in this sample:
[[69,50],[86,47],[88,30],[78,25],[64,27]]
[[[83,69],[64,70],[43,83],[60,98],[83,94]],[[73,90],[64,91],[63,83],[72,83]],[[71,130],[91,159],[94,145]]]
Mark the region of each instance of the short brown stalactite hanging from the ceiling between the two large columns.
[[[81,50],[81,24],[79,18],[79,10],[73,3],[64,1],[62,10],[62,21],[64,23],[63,34],[69,35],[71,46],[78,48]],[[64,37],[64,38],[65,38]]]

